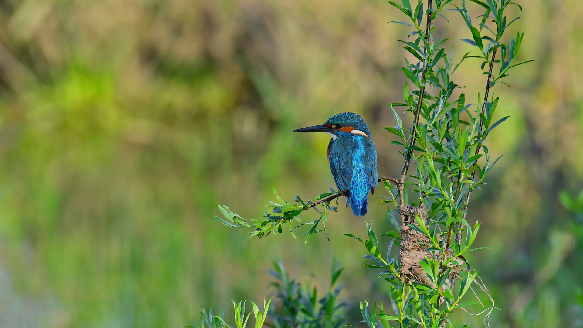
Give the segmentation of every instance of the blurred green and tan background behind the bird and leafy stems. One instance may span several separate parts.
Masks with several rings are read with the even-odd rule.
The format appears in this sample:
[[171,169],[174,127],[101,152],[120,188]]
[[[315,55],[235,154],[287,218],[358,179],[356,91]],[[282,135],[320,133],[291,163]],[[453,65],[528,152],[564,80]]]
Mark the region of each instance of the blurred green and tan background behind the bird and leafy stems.
[[[557,194],[583,186],[583,2],[521,4],[507,34],[526,30],[521,59],[542,61],[494,88],[511,118],[487,142],[504,157],[469,211],[492,249],[470,260],[501,309],[492,327],[581,327],[582,243]],[[329,137],[290,131],[342,111],[370,125],[379,175],[398,175],[383,128],[405,83],[396,40],[409,27],[387,24],[400,14],[376,0],[0,0],[0,326],[184,326],[199,306],[260,302],[278,258],[321,290],[342,261],[347,323],[357,301],[386,301],[341,235],[366,231],[350,210],[331,215],[331,241],[307,245],[210,217],[215,203],[260,216],[272,183],[289,200],[334,186]],[[457,60],[472,51],[458,16],[437,29]],[[479,64],[455,73],[472,102]],[[386,205],[370,203],[386,231]]]

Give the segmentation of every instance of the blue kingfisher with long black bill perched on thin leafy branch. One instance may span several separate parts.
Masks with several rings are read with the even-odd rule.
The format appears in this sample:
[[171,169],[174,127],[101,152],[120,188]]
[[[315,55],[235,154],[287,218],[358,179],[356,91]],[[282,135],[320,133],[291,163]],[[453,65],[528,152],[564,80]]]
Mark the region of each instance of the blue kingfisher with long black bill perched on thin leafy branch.
[[362,117],[356,113],[340,113],[324,124],[293,132],[325,132],[332,137],[326,157],[336,187],[346,196],[346,207],[352,205],[354,215],[366,215],[368,192],[374,194],[378,173],[377,149]]

